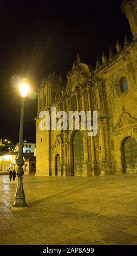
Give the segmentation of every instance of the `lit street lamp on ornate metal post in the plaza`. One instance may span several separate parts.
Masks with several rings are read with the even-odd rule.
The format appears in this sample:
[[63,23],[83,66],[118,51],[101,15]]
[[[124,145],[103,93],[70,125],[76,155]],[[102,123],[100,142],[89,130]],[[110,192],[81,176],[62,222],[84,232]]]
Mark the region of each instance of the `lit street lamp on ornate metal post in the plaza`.
[[20,120],[20,129],[19,129],[19,149],[18,149],[18,157],[16,160],[18,169],[17,169],[17,188],[15,193],[15,201],[12,205],[13,210],[19,210],[24,209],[28,205],[25,203],[25,194],[23,190],[23,174],[24,170],[22,166],[24,165],[23,160],[23,123],[24,123],[24,106],[25,106],[25,98],[29,92],[29,86],[28,84],[23,81],[21,84],[19,84],[19,91],[22,97],[22,106],[21,106],[21,120]]

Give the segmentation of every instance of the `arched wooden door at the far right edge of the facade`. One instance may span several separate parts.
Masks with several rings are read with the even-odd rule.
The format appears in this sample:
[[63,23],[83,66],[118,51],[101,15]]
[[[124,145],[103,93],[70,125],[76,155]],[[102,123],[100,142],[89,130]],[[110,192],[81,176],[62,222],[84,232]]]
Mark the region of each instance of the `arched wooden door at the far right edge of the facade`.
[[121,144],[122,173],[137,173],[137,142],[126,137]]

